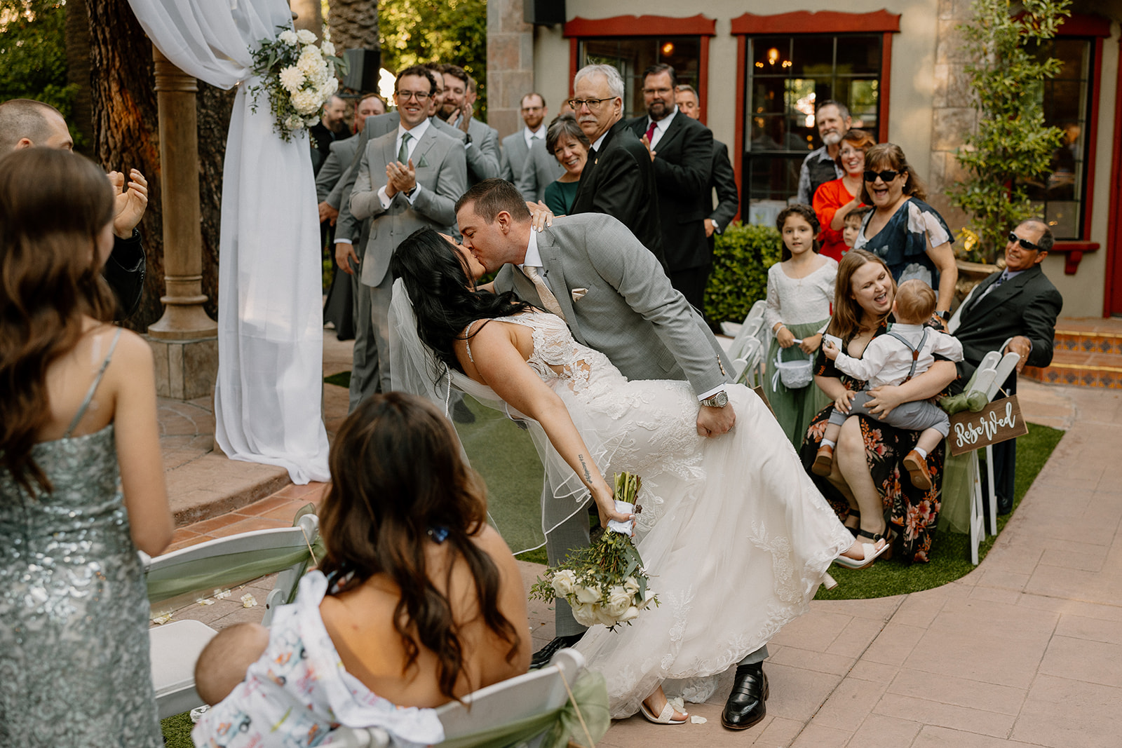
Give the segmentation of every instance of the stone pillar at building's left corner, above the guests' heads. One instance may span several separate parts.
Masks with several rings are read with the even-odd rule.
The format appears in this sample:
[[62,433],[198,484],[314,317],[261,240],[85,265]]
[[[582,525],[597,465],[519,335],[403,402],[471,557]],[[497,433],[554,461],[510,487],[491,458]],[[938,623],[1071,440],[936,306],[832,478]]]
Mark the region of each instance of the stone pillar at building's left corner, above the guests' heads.
[[[487,123],[505,137],[522,127],[522,96],[534,90],[534,27],[523,0],[487,3]],[[555,111],[558,102],[550,105]]]

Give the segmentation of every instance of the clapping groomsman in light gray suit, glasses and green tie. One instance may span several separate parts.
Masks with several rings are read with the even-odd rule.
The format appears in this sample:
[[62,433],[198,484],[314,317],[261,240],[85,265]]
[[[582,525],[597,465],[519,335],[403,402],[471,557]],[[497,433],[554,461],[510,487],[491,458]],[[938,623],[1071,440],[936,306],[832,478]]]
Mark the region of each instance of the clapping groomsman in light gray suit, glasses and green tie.
[[[389,385],[389,302],[393,276],[389,260],[397,244],[415,230],[447,231],[456,222],[456,200],[467,188],[463,147],[429,121],[429,101],[435,79],[414,65],[397,74],[394,101],[401,117],[397,129],[370,140],[350,195],[350,212],[371,219],[361,261],[361,281],[370,298],[374,339],[378,348],[381,390]],[[350,244],[342,244],[340,267],[358,265]],[[350,250],[350,251],[347,251]],[[337,247],[337,256],[339,255]]]

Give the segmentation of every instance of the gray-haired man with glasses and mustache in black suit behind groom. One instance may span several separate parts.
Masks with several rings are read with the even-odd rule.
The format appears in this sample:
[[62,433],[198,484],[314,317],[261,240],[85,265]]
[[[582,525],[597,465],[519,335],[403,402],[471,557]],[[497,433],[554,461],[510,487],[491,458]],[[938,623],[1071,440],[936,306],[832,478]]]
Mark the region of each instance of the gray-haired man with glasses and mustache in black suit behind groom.
[[654,165],[646,147],[623,120],[624,80],[619,71],[610,65],[580,68],[569,104],[592,144],[571,213],[614,216],[665,268]]

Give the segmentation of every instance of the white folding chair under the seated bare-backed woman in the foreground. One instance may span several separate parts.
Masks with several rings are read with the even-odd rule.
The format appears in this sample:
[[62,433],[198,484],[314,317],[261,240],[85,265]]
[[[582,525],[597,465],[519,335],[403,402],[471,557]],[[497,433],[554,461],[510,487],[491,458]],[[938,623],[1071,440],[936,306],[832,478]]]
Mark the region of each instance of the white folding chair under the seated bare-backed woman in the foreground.
[[[571,684],[583,669],[585,658],[579,652],[561,649],[548,667],[480,689],[465,696],[462,703],[451,701],[438,708],[436,715],[444,726],[444,744],[465,748],[478,745],[472,742],[472,736],[482,736],[482,741],[498,741],[502,736],[496,731],[504,726],[515,726],[564,707]],[[518,745],[535,748],[544,733],[545,729]],[[582,736],[574,737],[583,742]],[[380,728],[339,728],[331,732],[331,745],[340,748],[389,746],[389,736]]]

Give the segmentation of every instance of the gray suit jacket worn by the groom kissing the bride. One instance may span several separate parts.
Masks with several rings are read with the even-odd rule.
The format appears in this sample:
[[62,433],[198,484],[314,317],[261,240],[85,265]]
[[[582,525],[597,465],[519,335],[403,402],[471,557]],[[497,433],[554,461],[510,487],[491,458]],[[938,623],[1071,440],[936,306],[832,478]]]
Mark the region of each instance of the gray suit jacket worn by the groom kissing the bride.
[[[557,218],[537,234],[537,249],[572,336],[625,377],[688,379],[699,394],[729,381],[732,363],[708,325],[623,223],[604,213]],[[573,302],[573,288],[588,293]],[[513,266],[499,270],[495,289],[542,305]]]

